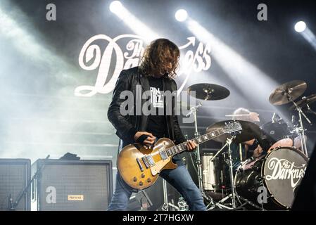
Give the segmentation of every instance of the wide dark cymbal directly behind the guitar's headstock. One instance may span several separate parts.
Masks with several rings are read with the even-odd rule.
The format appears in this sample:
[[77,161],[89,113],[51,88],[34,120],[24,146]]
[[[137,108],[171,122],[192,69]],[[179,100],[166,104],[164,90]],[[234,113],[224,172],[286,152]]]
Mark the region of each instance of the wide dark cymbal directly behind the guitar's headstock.
[[[215,131],[217,129],[224,129],[225,123],[232,121],[232,120],[226,120],[217,122],[213,125],[210,125],[206,129],[206,133]],[[257,124],[254,124],[253,122],[248,122],[244,120],[235,120],[241,124],[242,130],[240,134],[236,134],[236,138],[234,139],[235,143],[242,143],[244,141],[250,141],[251,139],[258,138],[262,136],[262,131],[260,127]],[[221,136],[217,136],[214,141],[225,143],[227,138],[231,138],[230,134],[222,134]]]

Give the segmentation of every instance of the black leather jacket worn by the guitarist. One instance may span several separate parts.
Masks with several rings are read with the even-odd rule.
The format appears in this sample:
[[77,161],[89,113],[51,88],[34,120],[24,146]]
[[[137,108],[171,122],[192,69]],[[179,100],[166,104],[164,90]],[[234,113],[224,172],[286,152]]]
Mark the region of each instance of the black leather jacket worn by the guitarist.
[[[163,90],[175,91],[177,90],[177,84],[174,79],[163,77]],[[141,91],[137,91],[137,84],[141,85]],[[140,86],[139,86],[140,87]],[[127,146],[130,143],[134,143],[134,134],[137,131],[146,131],[148,116],[136,115],[136,101],[141,102],[141,106],[147,101],[147,99],[141,99],[144,91],[149,90],[148,78],[139,72],[138,67],[130,68],[128,70],[122,70],[113,91],[113,98],[108,108],[108,120],[113,124],[116,129],[116,134],[122,140],[120,147]],[[129,90],[134,94],[134,107],[129,109],[133,112],[133,115],[123,116],[120,113],[120,105],[125,99],[120,99],[122,91]],[[138,96],[136,94],[138,93]],[[141,95],[139,94],[141,93]],[[167,104],[167,105],[166,105]],[[175,144],[186,141],[182,131],[179,127],[177,115],[174,112],[175,98],[172,98],[172,115],[165,115],[167,121],[168,138],[175,141]],[[165,101],[165,108],[170,107],[168,102]]]

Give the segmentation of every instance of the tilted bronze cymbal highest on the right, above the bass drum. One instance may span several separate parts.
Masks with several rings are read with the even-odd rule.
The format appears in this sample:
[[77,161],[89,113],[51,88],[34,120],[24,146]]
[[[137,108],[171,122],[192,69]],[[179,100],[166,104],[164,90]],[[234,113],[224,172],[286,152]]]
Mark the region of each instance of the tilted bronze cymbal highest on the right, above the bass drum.
[[283,105],[294,101],[301,96],[307,88],[306,82],[302,80],[293,80],[278,86],[269,97],[272,105]]

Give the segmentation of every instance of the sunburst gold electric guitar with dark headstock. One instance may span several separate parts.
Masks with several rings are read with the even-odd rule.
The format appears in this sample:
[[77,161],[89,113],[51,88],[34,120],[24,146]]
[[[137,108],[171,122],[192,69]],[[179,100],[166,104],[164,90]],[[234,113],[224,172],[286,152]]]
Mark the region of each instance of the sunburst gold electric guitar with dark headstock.
[[[234,134],[241,131],[241,124],[229,122],[224,128],[211,131],[195,139],[197,144],[215,139],[222,134]],[[175,144],[167,138],[159,139],[151,148],[144,148],[140,143],[125,146],[118,155],[118,171],[126,184],[132,188],[142,190],[152,186],[163,169],[175,169],[172,156],[187,150],[186,142]]]

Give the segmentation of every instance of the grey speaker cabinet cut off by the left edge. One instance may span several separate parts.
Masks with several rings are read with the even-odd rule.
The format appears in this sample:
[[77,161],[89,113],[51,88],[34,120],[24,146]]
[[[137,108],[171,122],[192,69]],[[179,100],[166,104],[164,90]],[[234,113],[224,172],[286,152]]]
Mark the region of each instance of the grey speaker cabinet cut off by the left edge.
[[[0,159],[0,211],[10,210],[11,201],[18,196],[30,182],[31,161],[27,159]],[[11,210],[30,210],[30,188],[26,190],[18,205]]]

